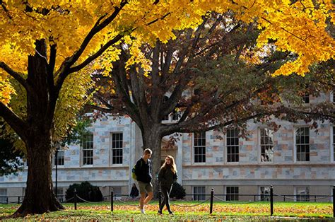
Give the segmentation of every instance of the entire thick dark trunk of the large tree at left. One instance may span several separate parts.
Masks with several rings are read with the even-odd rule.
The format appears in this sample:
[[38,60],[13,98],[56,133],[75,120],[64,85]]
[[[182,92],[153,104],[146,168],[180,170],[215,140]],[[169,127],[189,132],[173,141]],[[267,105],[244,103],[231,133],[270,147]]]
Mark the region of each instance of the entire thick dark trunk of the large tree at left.
[[14,216],[43,214],[64,209],[52,187],[52,120],[54,116],[53,76],[48,74],[47,46],[35,43],[35,55],[28,57],[27,123],[25,146],[28,154],[28,180],[23,204]]

